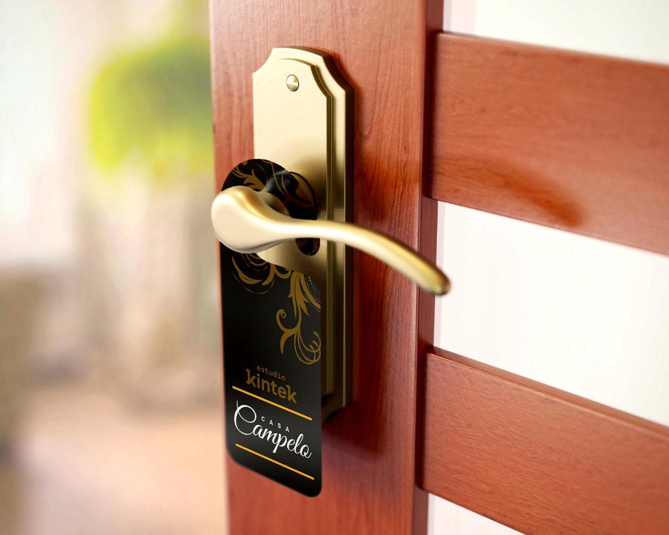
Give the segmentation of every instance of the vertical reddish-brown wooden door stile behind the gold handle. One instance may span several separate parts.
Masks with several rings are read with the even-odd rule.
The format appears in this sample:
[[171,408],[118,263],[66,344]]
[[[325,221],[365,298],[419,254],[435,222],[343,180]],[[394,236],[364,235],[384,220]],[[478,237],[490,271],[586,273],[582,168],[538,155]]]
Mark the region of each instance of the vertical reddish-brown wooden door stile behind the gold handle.
[[[436,225],[429,206],[420,213],[424,79],[441,2],[213,0],[211,15],[217,187],[252,155],[252,72],[272,47],[319,49],[355,91],[355,222],[430,251],[419,239]],[[233,535],[424,532],[417,317],[429,306],[419,310],[413,284],[360,254],[353,295],[355,401],[324,427],[321,495],[303,497],[229,461]]]

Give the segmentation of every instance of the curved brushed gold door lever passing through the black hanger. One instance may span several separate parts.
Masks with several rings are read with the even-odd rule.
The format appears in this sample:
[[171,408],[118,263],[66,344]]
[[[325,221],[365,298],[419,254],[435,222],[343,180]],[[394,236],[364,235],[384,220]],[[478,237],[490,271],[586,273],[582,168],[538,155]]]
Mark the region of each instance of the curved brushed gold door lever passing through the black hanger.
[[370,254],[430,293],[443,295],[449,290],[446,275],[401,242],[351,223],[293,219],[270,208],[249,187],[229,187],[218,194],[211,222],[220,242],[240,253],[265,251],[290,239],[320,238]]

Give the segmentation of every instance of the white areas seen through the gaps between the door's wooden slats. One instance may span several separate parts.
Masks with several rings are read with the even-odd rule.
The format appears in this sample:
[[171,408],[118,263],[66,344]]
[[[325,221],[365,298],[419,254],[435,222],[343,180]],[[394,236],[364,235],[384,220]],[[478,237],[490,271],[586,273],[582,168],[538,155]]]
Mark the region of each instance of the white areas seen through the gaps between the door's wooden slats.
[[[667,24],[663,1],[445,2],[449,31],[660,63]],[[436,346],[669,425],[669,256],[440,203],[438,261]],[[515,532],[431,496],[429,533]]]

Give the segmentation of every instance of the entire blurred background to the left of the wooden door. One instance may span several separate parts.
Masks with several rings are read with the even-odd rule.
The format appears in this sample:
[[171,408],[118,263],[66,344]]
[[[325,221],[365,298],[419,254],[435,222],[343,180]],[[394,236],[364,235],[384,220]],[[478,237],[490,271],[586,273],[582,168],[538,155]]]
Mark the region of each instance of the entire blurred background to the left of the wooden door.
[[0,533],[220,534],[206,1],[1,4]]

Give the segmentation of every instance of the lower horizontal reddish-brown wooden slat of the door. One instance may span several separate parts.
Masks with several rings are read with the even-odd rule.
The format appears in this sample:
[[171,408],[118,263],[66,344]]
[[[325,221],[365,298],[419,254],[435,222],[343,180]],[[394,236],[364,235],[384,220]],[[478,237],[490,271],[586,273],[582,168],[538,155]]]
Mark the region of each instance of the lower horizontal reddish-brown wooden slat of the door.
[[434,350],[424,490],[528,534],[659,534],[669,428]]

